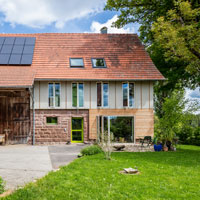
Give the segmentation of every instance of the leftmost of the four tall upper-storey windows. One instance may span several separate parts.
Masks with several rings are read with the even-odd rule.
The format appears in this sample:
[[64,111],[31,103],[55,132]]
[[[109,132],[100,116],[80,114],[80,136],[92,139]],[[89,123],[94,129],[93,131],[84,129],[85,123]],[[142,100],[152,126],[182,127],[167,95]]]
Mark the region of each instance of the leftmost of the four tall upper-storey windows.
[[60,107],[60,83],[49,83],[49,107]]

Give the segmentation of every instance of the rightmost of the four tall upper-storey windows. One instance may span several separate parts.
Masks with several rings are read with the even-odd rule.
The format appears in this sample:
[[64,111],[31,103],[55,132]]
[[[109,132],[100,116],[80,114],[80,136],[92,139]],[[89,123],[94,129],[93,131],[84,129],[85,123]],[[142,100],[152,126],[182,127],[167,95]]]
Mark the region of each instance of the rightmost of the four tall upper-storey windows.
[[134,83],[123,83],[123,106],[134,107]]

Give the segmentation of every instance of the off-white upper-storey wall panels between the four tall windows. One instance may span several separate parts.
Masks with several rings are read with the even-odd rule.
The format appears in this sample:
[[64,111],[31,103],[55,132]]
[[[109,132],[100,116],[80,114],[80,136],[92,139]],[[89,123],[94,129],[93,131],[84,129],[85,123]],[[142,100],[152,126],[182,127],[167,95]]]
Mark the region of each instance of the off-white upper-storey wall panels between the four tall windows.
[[[48,83],[36,81],[34,84],[35,108],[49,109]],[[59,109],[73,109],[72,107],[72,82],[61,83],[61,105]],[[97,108],[96,82],[84,82],[84,107],[81,109]],[[135,82],[135,109],[153,108],[153,82]],[[123,109],[122,82],[109,82],[109,107],[110,109]],[[52,109],[52,108],[51,108]]]

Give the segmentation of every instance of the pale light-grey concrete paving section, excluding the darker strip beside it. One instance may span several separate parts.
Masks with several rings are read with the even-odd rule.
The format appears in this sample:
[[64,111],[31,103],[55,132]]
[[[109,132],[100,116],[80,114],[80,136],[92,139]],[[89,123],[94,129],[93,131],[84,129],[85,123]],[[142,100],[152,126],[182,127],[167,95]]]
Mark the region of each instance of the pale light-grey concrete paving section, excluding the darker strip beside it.
[[16,189],[52,170],[47,146],[0,146],[0,176],[6,189]]

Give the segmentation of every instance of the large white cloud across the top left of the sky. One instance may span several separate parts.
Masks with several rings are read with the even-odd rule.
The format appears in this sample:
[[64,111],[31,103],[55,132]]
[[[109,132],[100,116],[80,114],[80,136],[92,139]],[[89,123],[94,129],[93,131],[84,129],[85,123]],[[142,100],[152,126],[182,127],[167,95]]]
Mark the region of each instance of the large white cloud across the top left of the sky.
[[0,0],[4,22],[33,28],[55,23],[63,28],[67,21],[102,11],[106,0]]

